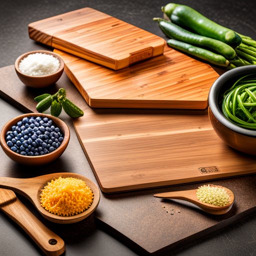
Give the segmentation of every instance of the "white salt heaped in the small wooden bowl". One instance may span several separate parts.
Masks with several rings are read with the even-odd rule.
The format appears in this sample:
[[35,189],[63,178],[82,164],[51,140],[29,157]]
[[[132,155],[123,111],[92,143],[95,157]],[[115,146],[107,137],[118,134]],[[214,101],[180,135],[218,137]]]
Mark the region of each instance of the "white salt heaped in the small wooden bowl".
[[23,58],[18,65],[20,72],[39,76],[49,75],[58,70],[60,66],[57,57],[46,53],[32,53]]

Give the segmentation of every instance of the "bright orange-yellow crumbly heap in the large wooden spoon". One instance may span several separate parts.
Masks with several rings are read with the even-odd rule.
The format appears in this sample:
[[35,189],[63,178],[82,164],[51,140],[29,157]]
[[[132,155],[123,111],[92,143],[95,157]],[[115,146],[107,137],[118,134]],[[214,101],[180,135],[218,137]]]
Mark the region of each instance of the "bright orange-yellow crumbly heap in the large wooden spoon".
[[40,194],[41,206],[59,216],[78,214],[87,209],[92,201],[92,190],[83,180],[73,177],[52,179]]

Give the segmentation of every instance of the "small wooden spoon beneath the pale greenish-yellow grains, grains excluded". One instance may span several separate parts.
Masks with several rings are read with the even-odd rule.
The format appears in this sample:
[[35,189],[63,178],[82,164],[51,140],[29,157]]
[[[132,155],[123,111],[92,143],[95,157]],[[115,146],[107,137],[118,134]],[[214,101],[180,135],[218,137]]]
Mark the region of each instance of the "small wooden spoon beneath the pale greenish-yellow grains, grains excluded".
[[191,202],[191,203],[197,205],[202,210],[204,210],[205,212],[210,213],[210,214],[219,215],[219,214],[224,214],[227,211],[229,211],[234,203],[233,192],[223,186],[218,186],[218,185],[210,185],[210,186],[217,186],[217,187],[224,188],[229,195],[229,198],[230,198],[229,203],[225,206],[215,206],[215,205],[212,205],[209,203],[201,202],[197,199],[197,196],[196,196],[197,189],[159,193],[159,194],[154,194],[154,196],[160,197],[160,198],[171,198],[171,199],[185,200],[185,201],[188,201],[188,202]]

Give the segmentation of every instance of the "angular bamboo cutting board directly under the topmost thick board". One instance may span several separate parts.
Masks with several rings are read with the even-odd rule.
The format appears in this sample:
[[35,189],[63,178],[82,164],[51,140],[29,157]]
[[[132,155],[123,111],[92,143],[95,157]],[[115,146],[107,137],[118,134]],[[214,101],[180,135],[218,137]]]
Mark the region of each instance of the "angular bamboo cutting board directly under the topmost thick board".
[[121,70],[54,51],[91,107],[205,109],[219,76],[210,65],[168,46],[164,54]]

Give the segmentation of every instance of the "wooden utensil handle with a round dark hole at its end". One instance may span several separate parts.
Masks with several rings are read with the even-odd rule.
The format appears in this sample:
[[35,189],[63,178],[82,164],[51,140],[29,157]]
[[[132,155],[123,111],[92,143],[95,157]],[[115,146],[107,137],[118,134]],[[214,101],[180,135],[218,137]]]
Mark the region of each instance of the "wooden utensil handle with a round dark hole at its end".
[[58,256],[64,252],[64,241],[41,223],[13,191],[0,188],[0,209],[21,226],[46,255]]

